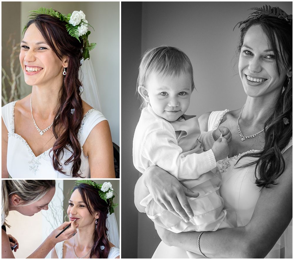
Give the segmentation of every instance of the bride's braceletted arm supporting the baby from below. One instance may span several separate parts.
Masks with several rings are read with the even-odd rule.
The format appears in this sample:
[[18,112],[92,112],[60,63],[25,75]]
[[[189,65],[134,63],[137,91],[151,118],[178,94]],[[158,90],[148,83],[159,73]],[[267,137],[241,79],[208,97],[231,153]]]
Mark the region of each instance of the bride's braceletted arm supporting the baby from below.
[[[253,216],[245,227],[204,232],[200,249],[210,258],[264,258],[272,249],[292,219],[292,147],[283,154],[285,170],[277,185],[264,188]],[[199,232],[175,234],[158,229],[168,244],[199,253]]]

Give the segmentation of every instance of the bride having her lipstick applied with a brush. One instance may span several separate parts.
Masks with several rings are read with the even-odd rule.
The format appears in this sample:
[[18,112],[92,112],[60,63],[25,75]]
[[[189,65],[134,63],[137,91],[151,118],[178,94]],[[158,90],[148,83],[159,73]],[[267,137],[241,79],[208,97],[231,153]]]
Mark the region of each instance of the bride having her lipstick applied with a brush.
[[[117,206],[113,197],[110,182],[76,181],[67,214],[79,225],[77,233],[56,244],[51,258],[119,258],[117,226],[110,220]],[[108,215],[108,210],[112,214]]]

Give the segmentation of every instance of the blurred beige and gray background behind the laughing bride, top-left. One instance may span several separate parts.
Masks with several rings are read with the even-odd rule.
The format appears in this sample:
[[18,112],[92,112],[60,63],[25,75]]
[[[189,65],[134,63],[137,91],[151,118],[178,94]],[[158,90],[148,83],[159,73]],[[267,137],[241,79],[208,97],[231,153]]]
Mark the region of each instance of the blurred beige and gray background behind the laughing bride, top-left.
[[[31,86],[26,85],[23,72],[19,69],[19,43],[29,11],[40,7],[53,8],[62,14],[82,10],[95,29],[89,29],[89,41],[97,43],[90,56],[98,85],[101,112],[109,122],[112,141],[119,145],[119,2],[1,2],[2,106],[31,93]],[[4,79],[6,74],[9,80]],[[11,88],[17,92],[12,98]],[[3,89],[6,90],[7,97]]]

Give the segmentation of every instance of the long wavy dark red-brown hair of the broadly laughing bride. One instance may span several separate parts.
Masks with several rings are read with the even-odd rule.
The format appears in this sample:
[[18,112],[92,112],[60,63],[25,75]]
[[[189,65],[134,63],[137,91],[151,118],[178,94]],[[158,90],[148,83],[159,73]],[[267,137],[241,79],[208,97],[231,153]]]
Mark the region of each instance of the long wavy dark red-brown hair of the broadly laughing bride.
[[[64,155],[64,149],[69,150],[72,155],[64,164],[73,163],[72,177],[81,177],[81,174],[78,173],[81,166],[81,146],[78,142],[78,130],[83,119],[83,107],[79,93],[81,82],[78,78],[78,72],[81,66],[80,59],[82,58],[81,49],[83,48],[83,43],[69,35],[64,21],[52,16],[40,14],[36,18],[29,20],[26,28],[31,24],[36,25],[46,43],[60,60],[65,56],[69,59],[63,86],[59,92],[59,109],[55,117],[59,113],[60,115],[54,120],[52,126],[53,134],[56,138],[51,150],[52,164],[54,170],[65,174],[61,159]],[[73,108],[75,112],[71,114],[71,109]],[[67,145],[70,145],[70,147]]]

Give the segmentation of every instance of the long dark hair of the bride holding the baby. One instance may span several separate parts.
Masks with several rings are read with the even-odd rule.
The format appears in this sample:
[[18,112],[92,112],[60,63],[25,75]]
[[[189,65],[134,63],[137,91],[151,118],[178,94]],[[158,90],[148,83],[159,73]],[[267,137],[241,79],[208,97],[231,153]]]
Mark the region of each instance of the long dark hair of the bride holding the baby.
[[[245,34],[253,25],[259,25],[266,34],[269,46],[273,50],[276,68],[280,76],[281,66],[292,67],[292,26],[278,17],[266,15],[260,16],[258,19],[249,20],[241,28],[239,51],[243,45]],[[278,184],[276,179],[285,170],[285,160],[282,152],[292,138],[292,77],[290,81],[286,77],[283,86],[285,91],[282,93],[281,89],[281,95],[276,100],[273,113],[264,124],[265,145],[263,150],[240,157],[240,159],[244,157],[257,158],[254,162],[240,167],[256,164],[255,183],[261,188],[269,188],[272,184]],[[284,120],[288,120],[289,123],[285,124]],[[270,126],[265,129],[267,125]]]

